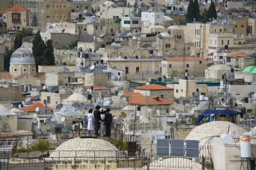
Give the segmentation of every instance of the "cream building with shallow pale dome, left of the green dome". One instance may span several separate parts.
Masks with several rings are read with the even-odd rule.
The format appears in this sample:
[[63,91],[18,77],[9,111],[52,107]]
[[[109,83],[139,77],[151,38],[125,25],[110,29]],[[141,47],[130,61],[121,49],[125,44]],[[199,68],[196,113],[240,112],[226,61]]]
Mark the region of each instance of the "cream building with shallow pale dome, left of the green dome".
[[205,78],[221,79],[223,74],[231,71],[230,66],[225,64],[212,65],[208,69],[205,69]]

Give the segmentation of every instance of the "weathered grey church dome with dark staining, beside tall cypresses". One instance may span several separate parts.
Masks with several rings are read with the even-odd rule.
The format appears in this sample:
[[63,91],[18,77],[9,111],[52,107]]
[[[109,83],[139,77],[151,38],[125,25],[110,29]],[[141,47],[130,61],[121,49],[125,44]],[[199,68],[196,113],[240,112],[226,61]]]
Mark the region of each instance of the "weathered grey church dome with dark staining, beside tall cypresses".
[[21,45],[12,53],[10,63],[35,63],[35,57],[27,48]]

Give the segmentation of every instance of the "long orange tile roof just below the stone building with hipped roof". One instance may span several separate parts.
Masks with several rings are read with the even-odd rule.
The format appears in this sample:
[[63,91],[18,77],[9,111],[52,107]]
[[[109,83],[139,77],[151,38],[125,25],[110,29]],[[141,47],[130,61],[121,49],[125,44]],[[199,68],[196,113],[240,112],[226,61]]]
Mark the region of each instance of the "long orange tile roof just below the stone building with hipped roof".
[[[154,96],[155,97],[155,96]],[[131,95],[128,97],[127,101],[130,104],[134,105],[146,105],[146,96],[137,96],[137,95]],[[171,102],[168,102],[165,99],[158,98],[158,101],[156,101],[153,96],[147,96],[147,105],[171,105]]]

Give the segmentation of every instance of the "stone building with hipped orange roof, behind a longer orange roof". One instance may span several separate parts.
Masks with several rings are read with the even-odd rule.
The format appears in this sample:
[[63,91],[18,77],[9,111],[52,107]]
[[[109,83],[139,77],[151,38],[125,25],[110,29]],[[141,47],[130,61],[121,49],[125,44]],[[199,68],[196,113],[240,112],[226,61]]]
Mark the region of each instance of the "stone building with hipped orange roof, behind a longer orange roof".
[[162,85],[150,84],[140,86],[134,88],[134,93],[140,93],[144,96],[158,96],[172,103],[174,100],[174,88],[164,87]]

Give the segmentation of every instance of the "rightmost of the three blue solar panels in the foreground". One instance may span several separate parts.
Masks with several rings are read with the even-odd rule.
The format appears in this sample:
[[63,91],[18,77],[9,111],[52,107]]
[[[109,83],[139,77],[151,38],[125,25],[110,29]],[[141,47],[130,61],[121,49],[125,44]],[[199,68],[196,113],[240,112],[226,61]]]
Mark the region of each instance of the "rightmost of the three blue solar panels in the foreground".
[[198,140],[186,140],[186,154],[192,154],[192,158],[199,158]]

